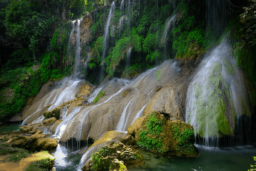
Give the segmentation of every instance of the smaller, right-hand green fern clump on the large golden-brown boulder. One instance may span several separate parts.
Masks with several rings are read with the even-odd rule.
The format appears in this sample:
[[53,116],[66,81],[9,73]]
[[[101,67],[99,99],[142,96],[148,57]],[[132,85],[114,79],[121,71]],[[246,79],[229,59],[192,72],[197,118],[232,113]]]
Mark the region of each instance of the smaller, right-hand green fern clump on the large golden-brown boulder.
[[[183,125],[185,126],[185,124]],[[186,127],[183,131],[180,126],[174,124],[172,126],[174,138],[178,141],[180,146],[190,145],[189,139],[194,136],[194,130]]]

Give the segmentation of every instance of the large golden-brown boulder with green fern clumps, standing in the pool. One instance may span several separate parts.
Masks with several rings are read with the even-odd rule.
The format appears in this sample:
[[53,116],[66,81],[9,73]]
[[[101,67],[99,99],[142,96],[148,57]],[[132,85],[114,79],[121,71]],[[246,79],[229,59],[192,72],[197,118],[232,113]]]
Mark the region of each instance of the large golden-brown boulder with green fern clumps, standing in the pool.
[[180,120],[167,121],[164,115],[154,112],[140,117],[128,128],[140,147],[155,153],[178,156],[196,156],[198,150],[191,125]]

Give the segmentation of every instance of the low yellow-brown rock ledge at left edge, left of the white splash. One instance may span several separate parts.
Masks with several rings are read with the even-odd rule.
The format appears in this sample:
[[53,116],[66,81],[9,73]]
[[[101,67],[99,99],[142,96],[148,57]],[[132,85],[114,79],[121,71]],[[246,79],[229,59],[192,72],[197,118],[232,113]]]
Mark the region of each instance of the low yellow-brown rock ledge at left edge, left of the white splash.
[[20,131],[12,131],[8,134],[1,135],[1,139],[8,139],[4,144],[11,144],[15,147],[27,149],[28,151],[52,151],[58,141],[53,138],[46,138],[41,131],[37,131],[33,135],[22,135]]

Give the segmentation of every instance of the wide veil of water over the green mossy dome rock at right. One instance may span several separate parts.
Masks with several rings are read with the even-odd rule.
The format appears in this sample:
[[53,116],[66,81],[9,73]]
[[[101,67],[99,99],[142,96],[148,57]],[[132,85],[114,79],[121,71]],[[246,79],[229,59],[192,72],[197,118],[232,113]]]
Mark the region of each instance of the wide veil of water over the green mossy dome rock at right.
[[[242,91],[241,91],[242,90]],[[187,91],[186,122],[203,145],[218,146],[219,137],[234,136],[238,117],[251,115],[242,74],[223,42],[202,61]]]

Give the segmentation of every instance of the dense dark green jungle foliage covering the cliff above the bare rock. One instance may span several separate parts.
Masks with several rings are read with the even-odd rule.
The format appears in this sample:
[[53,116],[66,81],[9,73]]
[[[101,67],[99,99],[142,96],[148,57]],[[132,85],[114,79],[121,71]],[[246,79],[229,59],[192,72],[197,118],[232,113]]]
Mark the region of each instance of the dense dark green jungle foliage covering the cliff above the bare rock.
[[0,121],[20,112],[42,84],[72,74],[71,20],[86,14],[90,40],[81,44],[80,58],[88,63],[78,70],[92,84],[106,76],[133,78],[166,59],[196,58],[231,30],[238,64],[256,85],[255,0],[116,0],[105,45],[111,3],[0,1]]

